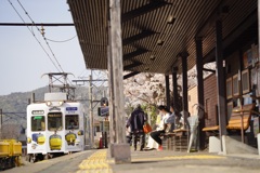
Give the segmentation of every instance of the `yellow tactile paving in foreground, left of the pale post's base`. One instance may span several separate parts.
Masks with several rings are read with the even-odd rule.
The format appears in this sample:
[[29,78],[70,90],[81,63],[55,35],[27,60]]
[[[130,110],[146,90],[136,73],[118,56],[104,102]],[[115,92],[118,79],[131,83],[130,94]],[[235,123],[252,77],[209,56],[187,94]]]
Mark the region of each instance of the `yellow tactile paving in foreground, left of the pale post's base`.
[[99,150],[79,164],[77,173],[112,173],[106,160],[106,150]]

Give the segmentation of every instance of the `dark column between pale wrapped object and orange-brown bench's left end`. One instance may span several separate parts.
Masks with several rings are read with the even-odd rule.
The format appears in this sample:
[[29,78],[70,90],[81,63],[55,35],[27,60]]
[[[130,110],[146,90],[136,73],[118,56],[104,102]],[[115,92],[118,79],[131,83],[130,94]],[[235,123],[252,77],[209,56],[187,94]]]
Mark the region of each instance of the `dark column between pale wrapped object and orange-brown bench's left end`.
[[203,132],[205,128],[205,105],[204,105],[204,77],[203,77],[203,39],[196,38],[196,67],[197,67],[197,103],[198,109],[198,138],[199,138],[199,149],[205,148],[206,133]]

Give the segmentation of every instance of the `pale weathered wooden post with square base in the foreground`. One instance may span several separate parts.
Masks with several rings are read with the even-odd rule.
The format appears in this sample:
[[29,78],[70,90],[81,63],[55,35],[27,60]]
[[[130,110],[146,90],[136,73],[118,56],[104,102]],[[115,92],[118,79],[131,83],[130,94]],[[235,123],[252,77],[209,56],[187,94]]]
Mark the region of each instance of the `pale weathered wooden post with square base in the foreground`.
[[115,163],[131,162],[130,145],[126,143],[125,98],[122,86],[122,39],[120,0],[109,0],[113,65],[114,111],[116,118]]

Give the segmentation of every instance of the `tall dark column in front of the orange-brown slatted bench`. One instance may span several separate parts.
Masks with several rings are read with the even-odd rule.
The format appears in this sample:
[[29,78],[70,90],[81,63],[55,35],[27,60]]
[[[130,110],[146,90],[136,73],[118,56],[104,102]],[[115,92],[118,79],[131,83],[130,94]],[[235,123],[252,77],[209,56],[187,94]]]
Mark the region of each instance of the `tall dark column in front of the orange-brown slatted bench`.
[[[225,78],[223,68],[223,46],[222,46],[222,22],[218,19],[216,22],[216,62],[217,62],[217,81],[218,81],[218,112],[220,124],[220,141],[222,144],[222,136],[226,135],[226,116],[225,116]],[[223,146],[221,145],[223,151]]]

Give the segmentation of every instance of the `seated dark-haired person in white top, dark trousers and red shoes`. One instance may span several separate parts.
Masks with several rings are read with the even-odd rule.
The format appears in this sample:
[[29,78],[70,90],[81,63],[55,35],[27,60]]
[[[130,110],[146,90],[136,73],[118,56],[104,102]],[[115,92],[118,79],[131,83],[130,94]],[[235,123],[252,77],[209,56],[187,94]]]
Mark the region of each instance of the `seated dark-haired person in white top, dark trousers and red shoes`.
[[158,109],[159,109],[160,114],[164,115],[162,120],[161,120],[162,124],[164,124],[162,125],[164,128],[162,128],[162,130],[151,132],[150,135],[151,135],[152,138],[154,138],[154,141],[156,141],[158,143],[158,145],[159,145],[158,150],[162,150],[162,145],[161,145],[162,141],[160,138],[160,135],[166,132],[166,130],[168,128],[168,124],[171,124],[171,123],[174,122],[174,119],[170,115],[170,111],[168,110],[168,108],[166,106],[160,105],[158,107]]

